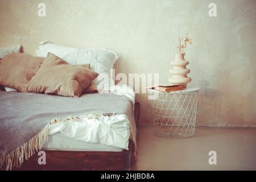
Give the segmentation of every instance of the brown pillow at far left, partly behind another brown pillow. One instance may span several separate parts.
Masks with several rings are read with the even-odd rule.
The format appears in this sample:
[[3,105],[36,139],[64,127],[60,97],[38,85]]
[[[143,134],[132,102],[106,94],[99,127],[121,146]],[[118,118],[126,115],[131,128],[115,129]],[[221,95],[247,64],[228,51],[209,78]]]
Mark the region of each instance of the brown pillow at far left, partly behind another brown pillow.
[[27,92],[26,87],[36,74],[43,57],[35,57],[24,53],[11,53],[0,60],[0,85],[14,88],[19,92]]

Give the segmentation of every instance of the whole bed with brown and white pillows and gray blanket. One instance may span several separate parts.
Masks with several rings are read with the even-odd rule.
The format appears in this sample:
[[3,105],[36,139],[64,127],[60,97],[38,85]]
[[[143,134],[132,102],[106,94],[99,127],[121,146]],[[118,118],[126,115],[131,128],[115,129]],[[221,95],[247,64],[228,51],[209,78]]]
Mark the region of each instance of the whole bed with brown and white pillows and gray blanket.
[[0,52],[0,90],[10,91],[0,92],[0,170],[130,169],[139,108],[132,88],[114,84],[116,53],[51,41],[36,56]]

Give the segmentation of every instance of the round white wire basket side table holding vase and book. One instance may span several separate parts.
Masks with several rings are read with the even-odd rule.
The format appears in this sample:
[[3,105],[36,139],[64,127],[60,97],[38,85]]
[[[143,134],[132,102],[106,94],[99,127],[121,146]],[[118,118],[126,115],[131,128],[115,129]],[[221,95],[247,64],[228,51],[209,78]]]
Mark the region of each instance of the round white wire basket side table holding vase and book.
[[154,134],[163,138],[188,138],[195,134],[199,88],[175,92],[148,89],[158,97],[151,100]]

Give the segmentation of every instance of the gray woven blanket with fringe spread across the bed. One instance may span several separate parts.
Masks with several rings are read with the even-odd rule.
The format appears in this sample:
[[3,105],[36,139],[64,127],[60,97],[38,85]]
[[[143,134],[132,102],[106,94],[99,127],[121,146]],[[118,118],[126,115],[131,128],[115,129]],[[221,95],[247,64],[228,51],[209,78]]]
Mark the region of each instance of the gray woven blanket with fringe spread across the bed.
[[[2,158],[39,134],[54,118],[67,118],[69,115],[79,116],[84,113],[114,112],[126,114],[131,122],[131,128],[135,129],[133,110],[134,105],[130,100],[115,94],[94,93],[72,98],[36,93],[0,92]],[[131,132],[133,135],[136,134],[135,131]]]

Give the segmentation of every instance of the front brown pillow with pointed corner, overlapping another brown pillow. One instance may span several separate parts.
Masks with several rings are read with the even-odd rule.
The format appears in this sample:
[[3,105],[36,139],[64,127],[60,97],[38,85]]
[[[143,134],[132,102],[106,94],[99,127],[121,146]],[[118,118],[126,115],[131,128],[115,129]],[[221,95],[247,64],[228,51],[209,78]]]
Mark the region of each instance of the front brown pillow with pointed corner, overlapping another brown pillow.
[[82,66],[72,66],[53,53],[48,53],[38,72],[27,85],[28,92],[55,93],[80,97],[98,73]]

